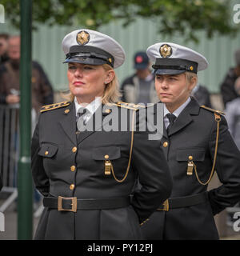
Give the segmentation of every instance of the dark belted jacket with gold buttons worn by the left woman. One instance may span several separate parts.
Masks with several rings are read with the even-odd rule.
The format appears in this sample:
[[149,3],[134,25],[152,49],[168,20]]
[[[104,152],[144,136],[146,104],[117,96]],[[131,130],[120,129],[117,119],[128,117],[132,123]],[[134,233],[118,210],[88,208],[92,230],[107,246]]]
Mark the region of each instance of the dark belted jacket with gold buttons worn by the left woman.
[[[130,159],[132,133],[105,131],[110,114],[106,111],[101,112],[102,126],[76,135],[74,103],[66,105],[56,109],[46,106],[54,110],[40,114],[34,131],[32,174],[37,189],[45,197],[54,198],[121,198],[133,192],[137,178],[142,189],[135,190],[130,206],[118,209],[74,213],[45,208],[35,238],[142,238],[139,223],[145,222],[159,203],[170,196],[172,187],[159,141],[149,141],[147,132],[134,131],[130,170],[123,182],[117,182],[112,174],[105,174],[105,156],[108,155],[116,178],[122,179]],[[126,111],[130,114],[134,110]]]

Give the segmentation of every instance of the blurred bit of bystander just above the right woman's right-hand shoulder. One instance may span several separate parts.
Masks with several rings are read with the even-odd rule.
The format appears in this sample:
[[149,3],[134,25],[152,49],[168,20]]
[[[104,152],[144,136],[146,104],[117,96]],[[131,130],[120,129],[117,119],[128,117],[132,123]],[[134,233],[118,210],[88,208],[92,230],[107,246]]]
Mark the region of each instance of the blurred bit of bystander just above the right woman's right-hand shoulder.
[[210,102],[210,92],[206,89],[205,86],[202,86],[198,83],[197,86],[195,86],[192,90],[191,95],[194,96],[200,106],[203,105],[212,107]]

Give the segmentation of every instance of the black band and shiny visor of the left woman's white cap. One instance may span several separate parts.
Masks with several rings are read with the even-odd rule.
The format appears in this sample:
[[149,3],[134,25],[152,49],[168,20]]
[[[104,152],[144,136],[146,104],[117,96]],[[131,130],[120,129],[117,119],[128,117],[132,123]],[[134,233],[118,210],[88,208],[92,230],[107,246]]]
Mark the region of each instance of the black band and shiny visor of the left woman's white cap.
[[114,67],[114,57],[105,50],[94,46],[71,46],[69,53],[66,54],[65,63],[71,61],[91,65],[106,63]]

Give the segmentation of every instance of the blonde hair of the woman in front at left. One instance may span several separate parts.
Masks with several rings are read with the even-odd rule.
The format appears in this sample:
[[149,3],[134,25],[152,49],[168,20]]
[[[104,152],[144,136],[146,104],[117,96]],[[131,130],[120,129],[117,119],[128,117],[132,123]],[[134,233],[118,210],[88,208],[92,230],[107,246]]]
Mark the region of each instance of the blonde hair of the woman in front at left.
[[[114,70],[110,65],[108,64],[103,64],[102,65],[104,70]],[[114,103],[114,102],[118,102],[119,98],[122,96],[122,94],[120,93],[120,91],[118,90],[118,78],[117,75],[114,72],[114,79],[106,84],[105,86],[105,90],[104,93],[102,95],[102,104],[107,104],[107,103]],[[69,91],[69,90],[67,90]],[[65,91],[62,91],[62,98],[66,98],[67,100],[69,100],[70,102],[74,102],[74,94],[72,94],[71,92],[68,94],[65,94]]]

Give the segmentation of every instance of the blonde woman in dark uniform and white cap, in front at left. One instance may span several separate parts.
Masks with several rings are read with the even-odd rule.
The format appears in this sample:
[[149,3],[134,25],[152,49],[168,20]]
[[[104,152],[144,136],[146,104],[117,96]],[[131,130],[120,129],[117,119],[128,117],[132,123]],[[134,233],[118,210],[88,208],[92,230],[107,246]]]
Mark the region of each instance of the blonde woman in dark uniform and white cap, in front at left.
[[[94,30],[67,34],[62,48],[70,102],[43,106],[32,140],[34,183],[46,207],[35,239],[140,239],[172,180],[159,141],[138,130],[138,106],[114,103],[114,68],[125,53]],[[132,121],[125,131],[116,129],[122,116]]]

